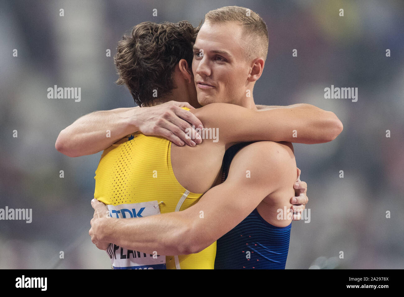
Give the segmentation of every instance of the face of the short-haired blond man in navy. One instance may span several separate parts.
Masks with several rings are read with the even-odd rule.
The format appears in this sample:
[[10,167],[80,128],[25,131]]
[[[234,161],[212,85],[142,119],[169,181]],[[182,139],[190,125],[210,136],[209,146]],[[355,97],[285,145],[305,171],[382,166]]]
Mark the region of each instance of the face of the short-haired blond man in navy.
[[[251,70],[242,48],[242,27],[236,23],[205,22],[196,38],[192,72],[198,102],[237,104],[246,97],[247,77]],[[200,56],[203,50],[203,57]]]

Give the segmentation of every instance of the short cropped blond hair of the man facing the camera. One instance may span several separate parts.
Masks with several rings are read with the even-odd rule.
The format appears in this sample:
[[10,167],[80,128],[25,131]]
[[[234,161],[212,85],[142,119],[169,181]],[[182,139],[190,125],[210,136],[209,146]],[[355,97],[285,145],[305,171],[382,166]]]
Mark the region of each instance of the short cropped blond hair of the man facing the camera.
[[225,6],[206,13],[205,22],[210,24],[234,22],[241,25],[245,37],[242,46],[246,60],[263,58],[265,61],[267,59],[267,25],[254,11],[240,6]]

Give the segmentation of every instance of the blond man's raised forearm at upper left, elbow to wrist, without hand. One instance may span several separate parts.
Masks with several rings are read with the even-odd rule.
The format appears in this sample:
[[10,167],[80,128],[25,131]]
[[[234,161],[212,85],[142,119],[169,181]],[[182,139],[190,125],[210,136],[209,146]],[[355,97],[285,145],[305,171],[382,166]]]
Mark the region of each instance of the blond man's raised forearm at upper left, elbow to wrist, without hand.
[[101,110],[82,116],[59,133],[55,147],[69,157],[100,152],[138,130],[133,120],[136,109]]

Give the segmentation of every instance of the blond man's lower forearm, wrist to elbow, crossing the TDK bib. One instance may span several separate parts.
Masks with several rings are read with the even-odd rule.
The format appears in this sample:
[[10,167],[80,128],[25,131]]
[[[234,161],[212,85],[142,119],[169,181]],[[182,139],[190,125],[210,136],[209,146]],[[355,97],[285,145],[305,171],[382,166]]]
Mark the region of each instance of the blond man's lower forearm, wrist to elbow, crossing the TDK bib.
[[150,254],[154,251],[159,255],[183,255],[192,252],[186,241],[192,223],[181,212],[143,218],[100,220],[99,232],[104,242],[113,242],[126,249]]

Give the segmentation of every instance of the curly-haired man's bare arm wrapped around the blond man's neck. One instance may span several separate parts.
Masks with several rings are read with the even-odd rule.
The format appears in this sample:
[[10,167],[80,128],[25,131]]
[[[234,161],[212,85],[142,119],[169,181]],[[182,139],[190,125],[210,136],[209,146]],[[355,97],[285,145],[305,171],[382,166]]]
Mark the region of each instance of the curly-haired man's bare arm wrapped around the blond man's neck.
[[205,127],[219,128],[219,142],[226,144],[263,140],[324,143],[343,129],[333,112],[303,103],[267,110],[211,103],[191,112]]

